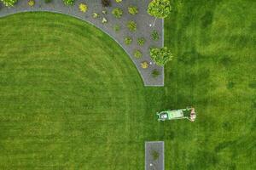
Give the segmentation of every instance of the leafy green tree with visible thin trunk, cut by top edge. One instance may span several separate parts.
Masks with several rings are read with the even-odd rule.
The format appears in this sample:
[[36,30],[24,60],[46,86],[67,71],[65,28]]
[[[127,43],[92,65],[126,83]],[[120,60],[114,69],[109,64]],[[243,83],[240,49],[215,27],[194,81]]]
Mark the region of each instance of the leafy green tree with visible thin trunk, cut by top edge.
[[166,18],[171,13],[171,10],[172,6],[169,0],[153,0],[148,4],[148,14],[155,17],[154,24],[157,18]]

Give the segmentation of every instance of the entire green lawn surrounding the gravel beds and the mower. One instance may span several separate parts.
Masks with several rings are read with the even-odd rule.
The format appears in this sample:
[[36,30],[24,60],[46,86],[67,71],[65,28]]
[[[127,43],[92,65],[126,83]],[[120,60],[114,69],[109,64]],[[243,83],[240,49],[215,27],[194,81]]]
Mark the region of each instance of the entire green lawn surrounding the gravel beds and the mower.
[[[83,21],[0,19],[0,169],[141,170],[145,140],[166,142],[166,169],[255,169],[253,8],[174,1],[164,88],[143,87],[122,48]],[[155,120],[187,105],[194,123]]]

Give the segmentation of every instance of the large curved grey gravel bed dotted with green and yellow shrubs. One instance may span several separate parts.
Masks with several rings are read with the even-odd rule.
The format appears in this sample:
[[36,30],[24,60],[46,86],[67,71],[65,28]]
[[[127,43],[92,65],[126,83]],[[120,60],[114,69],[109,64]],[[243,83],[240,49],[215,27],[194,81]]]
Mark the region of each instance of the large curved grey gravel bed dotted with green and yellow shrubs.
[[[64,0],[44,2],[41,0],[17,1],[14,7],[3,7],[0,3],[0,17],[8,14],[15,14],[26,11],[49,11],[62,14],[73,15],[81,20],[85,20],[107,32],[114,40],[119,42],[120,46],[129,54],[137,70],[143,78],[145,86],[163,86],[164,69],[162,65],[156,65],[150,58],[150,48],[161,48],[163,46],[163,20],[156,20],[155,26],[149,26],[154,23],[154,17],[147,12],[148,3],[146,1],[84,1],[84,0]],[[104,5],[102,5],[104,4]],[[86,31],[86,30],[84,30]],[[153,32],[157,32],[157,39],[152,37]],[[125,37],[131,37],[134,41],[131,44],[125,43]],[[142,40],[137,42],[137,40]],[[139,50],[142,56],[134,57],[134,51]],[[147,62],[148,67],[141,65]],[[152,72],[157,70],[160,74],[152,77]]]

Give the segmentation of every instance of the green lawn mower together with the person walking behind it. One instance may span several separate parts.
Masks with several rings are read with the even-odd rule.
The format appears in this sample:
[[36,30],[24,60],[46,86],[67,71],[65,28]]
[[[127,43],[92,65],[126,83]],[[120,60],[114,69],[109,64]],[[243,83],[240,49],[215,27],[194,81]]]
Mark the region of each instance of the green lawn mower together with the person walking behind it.
[[196,118],[195,108],[193,107],[187,107],[186,109],[180,110],[161,111],[157,112],[156,115],[159,122],[175,119],[188,119],[189,121],[194,122]]

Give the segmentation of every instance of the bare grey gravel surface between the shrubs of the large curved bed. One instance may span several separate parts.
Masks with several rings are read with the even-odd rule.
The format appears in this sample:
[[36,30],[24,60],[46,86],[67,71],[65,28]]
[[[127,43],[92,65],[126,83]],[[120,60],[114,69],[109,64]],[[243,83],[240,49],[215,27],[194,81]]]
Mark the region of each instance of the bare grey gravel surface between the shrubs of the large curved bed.
[[[125,52],[129,54],[133,63],[137,66],[145,86],[164,86],[164,68],[157,65],[149,65],[148,69],[141,68],[141,62],[148,61],[148,63],[153,61],[149,57],[150,47],[162,47],[163,46],[163,20],[157,20],[154,28],[150,27],[149,24],[153,23],[154,18],[147,14],[148,3],[150,0],[123,0],[122,3],[115,3],[112,0],[112,7],[106,8],[107,14],[102,14],[102,3],[101,0],[76,0],[75,5],[65,6],[61,0],[52,0],[51,3],[44,3],[43,0],[35,0],[35,5],[29,7],[26,0],[18,0],[13,8],[6,8],[3,3],[0,3],[0,17],[27,11],[49,11],[61,14],[72,15],[73,17],[79,18],[80,20],[85,20],[90,24],[98,27],[102,31],[106,32],[110,37],[119,43],[119,45],[125,49]],[[79,3],[86,3],[88,6],[88,11],[82,13],[79,11]],[[136,15],[128,14],[128,6],[137,6],[139,8],[139,13]],[[116,19],[111,11],[113,8],[122,8],[124,14],[121,19]],[[92,13],[101,14],[101,19],[94,19]],[[108,23],[102,24],[102,17],[108,20]],[[131,32],[127,29],[126,24],[129,20],[134,20],[137,22],[137,31]],[[121,27],[119,32],[113,31],[113,26],[119,25]],[[154,42],[151,39],[151,32],[156,30],[160,33],[160,40]],[[125,45],[125,37],[132,37],[133,42],[131,45]],[[137,45],[137,37],[144,37],[146,42],[143,47]],[[135,49],[139,49],[143,52],[143,58],[136,59],[133,57],[133,52]],[[151,73],[154,69],[160,71],[159,77],[152,77]]]

